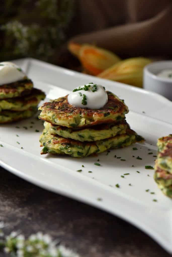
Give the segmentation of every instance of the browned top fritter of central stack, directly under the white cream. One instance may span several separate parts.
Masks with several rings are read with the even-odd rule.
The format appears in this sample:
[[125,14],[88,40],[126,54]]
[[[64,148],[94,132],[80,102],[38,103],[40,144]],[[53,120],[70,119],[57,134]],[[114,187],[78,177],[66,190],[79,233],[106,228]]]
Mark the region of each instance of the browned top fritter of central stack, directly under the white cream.
[[75,107],[68,103],[68,95],[39,107],[41,120],[69,128],[93,126],[101,123],[120,122],[125,119],[128,107],[123,100],[107,91],[108,102],[101,109]]

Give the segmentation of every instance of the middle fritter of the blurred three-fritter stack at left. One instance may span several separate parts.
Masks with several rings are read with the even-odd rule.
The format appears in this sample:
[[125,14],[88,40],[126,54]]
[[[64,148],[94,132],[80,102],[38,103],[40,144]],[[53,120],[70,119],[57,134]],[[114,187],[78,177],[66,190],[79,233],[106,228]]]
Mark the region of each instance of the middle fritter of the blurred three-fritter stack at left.
[[29,95],[23,97],[0,99],[0,111],[25,111],[30,107],[36,107],[41,100],[44,100],[45,93],[37,88],[32,88]]

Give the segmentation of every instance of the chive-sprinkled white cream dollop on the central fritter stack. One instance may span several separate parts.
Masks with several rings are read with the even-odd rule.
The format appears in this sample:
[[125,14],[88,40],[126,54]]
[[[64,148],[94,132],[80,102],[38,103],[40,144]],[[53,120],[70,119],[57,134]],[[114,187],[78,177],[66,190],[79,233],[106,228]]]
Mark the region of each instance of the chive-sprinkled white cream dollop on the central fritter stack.
[[102,85],[89,83],[72,90],[69,104],[88,109],[100,109],[108,102],[108,95]]

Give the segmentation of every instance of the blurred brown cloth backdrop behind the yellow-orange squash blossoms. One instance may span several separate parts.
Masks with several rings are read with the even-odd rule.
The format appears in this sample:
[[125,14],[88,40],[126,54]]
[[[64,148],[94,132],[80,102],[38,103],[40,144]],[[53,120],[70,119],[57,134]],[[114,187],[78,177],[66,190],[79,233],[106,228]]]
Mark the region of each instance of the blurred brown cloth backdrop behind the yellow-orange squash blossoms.
[[171,0],[76,0],[72,42],[91,43],[122,58],[172,58]]

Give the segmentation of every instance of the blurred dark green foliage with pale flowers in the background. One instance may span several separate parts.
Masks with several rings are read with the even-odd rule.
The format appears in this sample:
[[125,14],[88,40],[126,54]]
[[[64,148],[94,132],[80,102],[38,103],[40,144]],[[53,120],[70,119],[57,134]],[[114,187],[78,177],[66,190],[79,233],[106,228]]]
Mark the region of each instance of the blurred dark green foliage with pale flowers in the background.
[[73,6],[74,0],[4,1],[0,60],[34,57],[55,62]]

